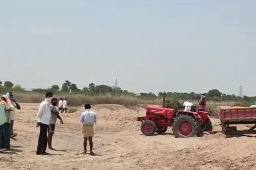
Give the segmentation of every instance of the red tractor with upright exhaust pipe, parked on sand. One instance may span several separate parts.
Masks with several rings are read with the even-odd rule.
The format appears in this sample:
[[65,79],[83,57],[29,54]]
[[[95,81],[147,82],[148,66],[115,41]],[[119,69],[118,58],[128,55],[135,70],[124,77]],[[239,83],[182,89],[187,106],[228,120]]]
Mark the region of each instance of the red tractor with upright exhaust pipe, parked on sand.
[[[163,104],[164,106],[164,104]],[[192,110],[183,111],[163,107],[147,107],[146,116],[138,117],[142,122],[141,131],[149,136],[155,132],[164,133],[173,127],[175,137],[192,137],[202,131],[211,131],[212,123],[208,112]]]

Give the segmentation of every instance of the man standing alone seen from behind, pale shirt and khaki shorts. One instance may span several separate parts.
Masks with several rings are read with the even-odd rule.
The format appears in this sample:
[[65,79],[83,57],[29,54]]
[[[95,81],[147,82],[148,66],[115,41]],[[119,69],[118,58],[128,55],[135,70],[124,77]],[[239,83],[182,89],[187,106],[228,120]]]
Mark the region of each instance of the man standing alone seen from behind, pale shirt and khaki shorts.
[[80,117],[80,122],[83,124],[83,128],[82,128],[82,134],[84,137],[83,154],[86,154],[87,139],[88,139],[90,144],[90,154],[94,155],[92,151],[92,148],[93,148],[92,137],[94,135],[93,125],[96,124],[97,116],[95,112],[91,111],[90,104],[85,104],[84,107],[85,107],[85,112],[83,112]]

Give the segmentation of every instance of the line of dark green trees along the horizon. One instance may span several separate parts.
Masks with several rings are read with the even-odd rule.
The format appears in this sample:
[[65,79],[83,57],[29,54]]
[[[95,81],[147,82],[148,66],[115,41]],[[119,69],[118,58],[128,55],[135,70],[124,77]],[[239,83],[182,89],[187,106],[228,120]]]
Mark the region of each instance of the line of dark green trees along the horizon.
[[[14,88],[17,90],[24,90],[20,85],[14,85],[11,81],[5,81],[3,86],[2,82],[0,81],[0,87],[4,88]],[[24,90],[25,91],[25,90]],[[135,94],[133,92],[128,92],[128,90],[123,90],[120,87],[111,87],[108,85],[95,85],[94,83],[90,83],[87,87],[79,89],[75,83],[72,83],[69,80],[65,80],[61,87],[59,85],[54,84],[51,87],[46,89],[43,88],[36,88],[32,89],[32,92],[37,93],[45,93],[46,91],[52,91],[55,93],[63,92],[63,93],[74,93],[74,94],[85,94],[85,95],[94,95],[94,94],[102,94],[102,93],[110,93],[114,95],[131,95],[136,96],[141,99],[148,99],[154,100],[157,98],[162,98],[166,96],[167,98],[174,98],[174,99],[182,99],[182,100],[199,100],[201,98],[201,94],[199,93],[182,93],[182,92],[159,92],[158,95],[149,92],[149,93],[138,93]],[[210,90],[206,93],[206,97],[209,100],[214,101],[240,101],[240,102],[249,102],[255,101],[255,97],[248,97],[248,96],[236,96],[235,94],[224,94],[221,93],[218,89]]]

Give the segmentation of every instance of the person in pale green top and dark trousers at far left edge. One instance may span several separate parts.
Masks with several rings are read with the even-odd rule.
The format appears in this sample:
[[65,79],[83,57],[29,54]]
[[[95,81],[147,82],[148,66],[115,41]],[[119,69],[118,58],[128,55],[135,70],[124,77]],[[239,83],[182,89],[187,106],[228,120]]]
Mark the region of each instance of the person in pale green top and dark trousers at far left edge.
[[5,124],[6,124],[6,111],[9,110],[5,97],[0,98],[0,149],[6,147]]

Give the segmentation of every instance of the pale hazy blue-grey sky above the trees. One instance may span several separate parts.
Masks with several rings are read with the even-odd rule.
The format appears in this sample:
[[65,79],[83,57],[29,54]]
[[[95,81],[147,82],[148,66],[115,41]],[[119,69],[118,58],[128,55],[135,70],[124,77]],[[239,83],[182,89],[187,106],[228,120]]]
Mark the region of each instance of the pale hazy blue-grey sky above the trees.
[[0,80],[256,95],[255,0],[1,0]]

